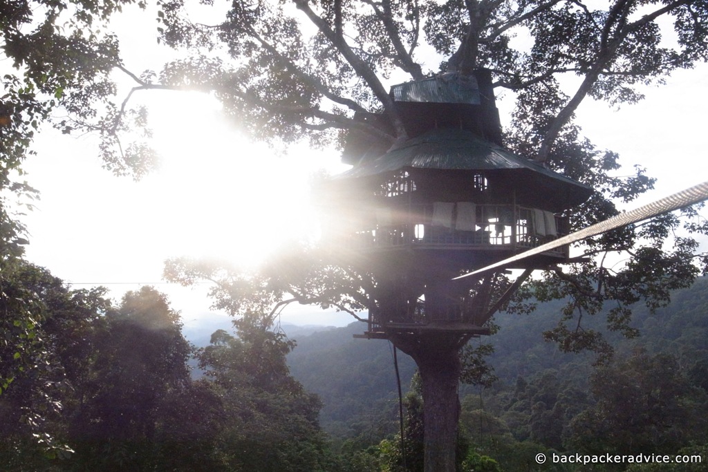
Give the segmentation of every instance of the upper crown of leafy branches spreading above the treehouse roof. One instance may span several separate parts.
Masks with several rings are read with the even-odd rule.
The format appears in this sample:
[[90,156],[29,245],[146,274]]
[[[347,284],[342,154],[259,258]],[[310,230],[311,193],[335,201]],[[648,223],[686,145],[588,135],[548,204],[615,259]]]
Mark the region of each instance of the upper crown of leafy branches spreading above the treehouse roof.
[[[212,25],[190,21],[182,0],[162,8],[162,40],[193,52],[164,67],[162,84],[216,90],[258,139],[307,137],[320,145],[353,128],[389,142],[404,139],[384,88],[392,76],[469,75],[487,67],[497,86],[518,93],[520,110],[535,115],[537,124],[528,120],[525,127],[547,153],[586,96],[632,103],[641,99],[636,85],[707,57],[707,12],[698,1],[623,0],[604,10],[561,0],[257,1],[232,5]],[[674,45],[661,41],[663,18],[675,21]],[[513,41],[521,32],[530,33],[530,45]],[[424,46],[444,59],[439,70],[428,65]],[[559,88],[562,74],[581,79],[571,97]],[[391,131],[353,115],[378,110],[391,118]]]

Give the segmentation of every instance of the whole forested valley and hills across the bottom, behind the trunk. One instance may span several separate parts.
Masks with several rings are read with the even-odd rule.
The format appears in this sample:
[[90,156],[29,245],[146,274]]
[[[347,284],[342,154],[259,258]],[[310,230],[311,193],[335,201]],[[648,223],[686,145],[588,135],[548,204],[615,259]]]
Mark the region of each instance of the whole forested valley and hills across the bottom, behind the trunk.
[[[258,313],[215,318],[208,345],[196,348],[185,334],[205,333],[186,329],[152,287],[115,302],[103,289],[69,289],[42,267],[14,268],[6,306],[31,293],[42,311],[11,325],[25,344],[0,343],[0,365],[18,366],[1,385],[4,471],[423,470],[424,398],[413,362],[398,356],[402,441],[394,351],[353,338],[360,323],[298,333],[264,325]],[[459,471],[706,470],[556,468],[535,457],[708,458],[708,281],[653,313],[637,306],[642,335],[608,336],[615,357],[604,364],[543,341],[560,306],[501,313],[496,335],[472,341],[491,343],[484,361],[496,380],[459,388]],[[602,319],[585,326],[600,330]]]

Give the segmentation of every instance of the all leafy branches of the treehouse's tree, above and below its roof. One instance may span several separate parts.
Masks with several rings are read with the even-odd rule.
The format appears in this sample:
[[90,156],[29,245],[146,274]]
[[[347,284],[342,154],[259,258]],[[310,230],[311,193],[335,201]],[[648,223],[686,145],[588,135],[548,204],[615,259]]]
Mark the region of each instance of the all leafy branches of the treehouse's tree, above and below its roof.
[[[273,144],[309,139],[313,146],[341,147],[350,132],[363,132],[389,149],[408,138],[387,93],[390,81],[489,68],[497,90],[508,90],[516,103],[508,147],[597,190],[568,212],[573,229],[614,216],[615,202],[631,202],[654,183],[640,167],[616,176],[619,156],[596,148],[573,123],[578,105],[588,97],[634,103],[642,98],[637,86],[661,83],[670,71],[708,58],[708,11],[692,0],[617,0],[605,9],[563,0],[256,1],[232,5],[211,25],[190,21],[182,0],[161,8],[161,39],[192,57],[166,64],[156,84],[139,86],[216,91],[243,129]],[[675,42],[664,40],[660,27],[672,20]],[[528,42],[513,40],[525,33]],[[445,59],[439,69],[423,64],[424,45]],[[574,91],[561,87],[570,83],[567,76],[578,78]],[[366,120],[371,113],[382,113],[387,126],[373,126]],[[689,286],[706,270],[696,236],[708,227],[695,221],[697,209],[687,208],[590,238],[581,244],[590,262],[544,272],[510,307],[567,299],[544,337],[564,352],[592,350],[606,362],[612,349],[600,331],[586,328],[588,318],[613,301],[607,327],[635,336],[629,306],[663,306],[670,290]],[[674,237],[679,231],[685,236]],[[232,314],[297,301],[358,316],[375,303],[377,281],[343,263],[342,251],[289,244],[256,272],[172,260],[166,275],[184,284],[214,280],[215,306]],[[614,253],[628,262],[615,264]]]

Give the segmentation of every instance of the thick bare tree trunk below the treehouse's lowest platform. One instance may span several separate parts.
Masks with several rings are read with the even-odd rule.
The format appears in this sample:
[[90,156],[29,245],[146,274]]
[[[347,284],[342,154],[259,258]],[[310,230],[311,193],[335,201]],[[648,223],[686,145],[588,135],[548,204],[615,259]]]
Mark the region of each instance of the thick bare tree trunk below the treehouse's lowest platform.
[[425,471],[455,472],[459,340],[449,335],[421,336],[409,354],[423,383]]

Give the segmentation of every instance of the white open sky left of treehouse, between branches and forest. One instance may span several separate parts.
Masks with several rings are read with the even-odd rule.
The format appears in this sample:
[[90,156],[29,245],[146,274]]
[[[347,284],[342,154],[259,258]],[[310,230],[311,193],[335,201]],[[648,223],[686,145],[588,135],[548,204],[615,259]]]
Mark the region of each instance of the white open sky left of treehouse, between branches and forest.
[[[273,156],[229,127],[209,96],[158,92],[149,98],[161,166],[137,183],[101,168],[93,137],[42,134],[38,156],[25,166],[42,194],[24,219],[27,255],[76,287],[105,284],[115,297],[155,284],[185,317],[198,315],[210,305],[207,287],[164,284],[164,260],[253,265],[288,238],[314,237],[310,175],[319,168],[341,171],[341,165],[334,154],[304,147]],[[292,319],[287,314],[282,321],[298,324],[352,321],[301,306],[285,313]]]

